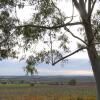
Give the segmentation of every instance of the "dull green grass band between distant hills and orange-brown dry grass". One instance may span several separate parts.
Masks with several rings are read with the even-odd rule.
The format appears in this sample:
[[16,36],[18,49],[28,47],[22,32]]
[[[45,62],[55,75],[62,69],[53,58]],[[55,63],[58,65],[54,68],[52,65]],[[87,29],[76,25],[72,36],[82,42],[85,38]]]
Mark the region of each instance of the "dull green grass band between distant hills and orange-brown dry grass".
[[71,94],[79,94],[79,95],[92,95],[95,96],[95,88],[90,87],[75,87],[75,86],[51,86],[51,85],[35,85],[30,86],[29,84],[7,84],[0,85],[0,93],[3,92],[13,92],[23,93],[23,94],[32,94],[32,95],[71,95]]

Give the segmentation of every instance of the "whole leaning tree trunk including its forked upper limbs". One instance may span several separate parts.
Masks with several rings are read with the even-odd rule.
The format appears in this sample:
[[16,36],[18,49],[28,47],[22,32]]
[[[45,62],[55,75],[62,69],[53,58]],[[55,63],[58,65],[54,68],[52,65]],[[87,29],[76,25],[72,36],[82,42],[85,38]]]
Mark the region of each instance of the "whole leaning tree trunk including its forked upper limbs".
[[91,0],[88,2],[88,12],[84,6],[84,0],[72,0],[76,9],[79,11],[81,19],[83,21],[83,26],[85,28],[85,33],[88,42],[88,56],[93,69],[96,87],[97,87],[97,100],[100,100],[100,59],[94,44],[94,34],[91,25]]

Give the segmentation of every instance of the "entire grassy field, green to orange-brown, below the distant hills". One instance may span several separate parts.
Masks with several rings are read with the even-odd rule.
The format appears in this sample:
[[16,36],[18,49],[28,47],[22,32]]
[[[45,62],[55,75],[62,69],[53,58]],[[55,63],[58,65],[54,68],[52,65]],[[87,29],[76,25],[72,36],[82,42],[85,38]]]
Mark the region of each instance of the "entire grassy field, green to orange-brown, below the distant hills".
[[96,100],[95,86],[89,84],[1,84],[0,100]]

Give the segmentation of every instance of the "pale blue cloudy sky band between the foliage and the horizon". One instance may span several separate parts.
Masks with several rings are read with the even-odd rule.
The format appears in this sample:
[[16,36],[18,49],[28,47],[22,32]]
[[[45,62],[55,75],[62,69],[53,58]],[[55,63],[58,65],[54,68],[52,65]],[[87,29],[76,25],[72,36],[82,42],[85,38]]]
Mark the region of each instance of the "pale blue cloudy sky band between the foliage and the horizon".
[[[3,60],[0,62],[0,76],[21,76],[26,75],[24,72],[25,61]],[[39,64],[37,67],[38,75],[55,76],[55,75],[75,75],[75,76],[92,76],[92,68],[88,59],[71,58],[65,64],[58,63],[55,66],[50,64]]]

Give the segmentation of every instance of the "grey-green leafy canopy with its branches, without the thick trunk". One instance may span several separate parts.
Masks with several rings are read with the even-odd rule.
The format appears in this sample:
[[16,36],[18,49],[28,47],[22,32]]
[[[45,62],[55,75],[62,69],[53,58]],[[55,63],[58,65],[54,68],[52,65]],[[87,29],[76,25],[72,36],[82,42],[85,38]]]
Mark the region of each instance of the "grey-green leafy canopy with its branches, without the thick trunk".
[[[82,40],[80,37],[76,36],[68,26],[73,25],[82,25],[82,17],[85,16],[85,13],[82,11],[86,10],[88,17],[91,17],[92,29],[94,32],[94,40],[96,47],[98,48],[100,42],[99,26],[100,26],[100,11],[97,9],[97,12],[93,14],[94,6],[98,0],[82,0],[78,1],[63,1],[66,4],[70,2],[72,5],[72,16],[69,17],[62,9],[58,7],[59,0],[0,0],[0,54],[1,59],[8,56],[14,56],[15,52],[13,47],[18,45],[18,37],[22,36],[22,41],[24,43],[23,48],[29,50],[33,44],[38,44],[42,42],[48,49],[43,47],[42,51],[32,52],[32,55],[29,56],[26,61],[30,65],[30,59],[33,63],[30,66],[36,66],[38,63],[46,62],[52,63],[53,65],[56,62],[64,60],[68,56],[71,56],[74,53],[79,52],[80,50],[88,48],[87,36],[85,34],[84,28],[80,32],[84,37]],[[82,4],[83,2],[83,4]],[[81,6],[79,6],[79,4]],[[91,3],[91,6],[87,4]],[[75,22],[74,16],[74,6],[79,9],[80,18],[78,22]],[[33,6],[32,12],[33,15],[29,21],[20,22],[20,19],[17,17],[16,8],[24,9],[25,6]],[[14,13],[14,15],[12,14]],[[85,20],[86,17],[83,19]],[[70,40],[67,34],[71,34],[74,38],[79,40],[81,43],[78,43],[79,49],[70,53],[68,44]],[[46,39],[47,38],[47,39]],[[55,44],[58,44],[55,47]],[[33,48],[31,48],[33,49]],[[34,51],[34,50],[33,50]],[[68,55],[66,55],[68,54]],[[65,56],[66,55],[66,56]],[[27,66],[28,66],[27,65]],[[27,68],[28,69],[28,68]]]

